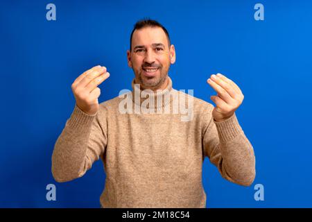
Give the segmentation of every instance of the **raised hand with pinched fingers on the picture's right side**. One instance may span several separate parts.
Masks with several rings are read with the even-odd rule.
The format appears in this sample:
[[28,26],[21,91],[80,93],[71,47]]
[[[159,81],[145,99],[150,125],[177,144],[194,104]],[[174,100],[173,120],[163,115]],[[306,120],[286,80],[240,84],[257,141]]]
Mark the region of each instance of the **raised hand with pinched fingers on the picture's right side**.
[[211,101],[216,103],[212,111],[214,120],[220,122],[232,117],[244,99],[239,86],[221,74],[211,75],[207,83],[217,92],[216,96],[210,96]]

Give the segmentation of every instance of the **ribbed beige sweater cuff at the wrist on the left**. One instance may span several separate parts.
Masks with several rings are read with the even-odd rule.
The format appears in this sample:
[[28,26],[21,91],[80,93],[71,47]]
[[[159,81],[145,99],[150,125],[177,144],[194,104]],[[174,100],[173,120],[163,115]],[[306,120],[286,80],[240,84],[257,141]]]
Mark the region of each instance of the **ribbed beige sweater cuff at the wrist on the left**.
[[86,114],[83,110],[80,110],[77,105],[75,105],[75,108],[71,113],[71,117],[67,121],[67,125],[77,133],[86,132],[89,130],[95,117],[96,114]]

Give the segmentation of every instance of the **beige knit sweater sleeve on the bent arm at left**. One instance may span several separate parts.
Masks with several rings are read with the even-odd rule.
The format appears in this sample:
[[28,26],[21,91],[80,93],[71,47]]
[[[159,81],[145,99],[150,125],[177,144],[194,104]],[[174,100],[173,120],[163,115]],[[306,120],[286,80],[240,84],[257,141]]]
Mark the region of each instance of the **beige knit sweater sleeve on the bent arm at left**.
[[101,105],[94,115],[85,114],[75,105],[55,142],[52,155],[52,174],[55,180],[67,182],[82,177],[104,153],[106,133]]

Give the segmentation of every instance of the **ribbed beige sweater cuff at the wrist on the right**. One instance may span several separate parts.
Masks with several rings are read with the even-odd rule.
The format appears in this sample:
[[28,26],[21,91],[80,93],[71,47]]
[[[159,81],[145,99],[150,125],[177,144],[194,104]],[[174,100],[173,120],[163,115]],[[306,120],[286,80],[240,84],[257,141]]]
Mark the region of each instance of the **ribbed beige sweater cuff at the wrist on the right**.
[[214,121],[214,123],[216,124],[220,141],[223,143],[232,140],[237,135],[243,133],[243,129],[239,125],[235,112],[232,117],[229,117],[229,119],[222,122]]

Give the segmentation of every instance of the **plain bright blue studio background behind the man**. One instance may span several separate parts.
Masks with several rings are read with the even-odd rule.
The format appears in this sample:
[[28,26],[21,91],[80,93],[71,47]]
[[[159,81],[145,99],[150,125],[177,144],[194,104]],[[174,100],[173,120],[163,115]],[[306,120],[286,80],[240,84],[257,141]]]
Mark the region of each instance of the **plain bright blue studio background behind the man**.
[[[46,20],[48,3],[56,21]],[[256,3],[264,21],[254,19]],[[175,89],[194,89],[212,103],[206,80],[220,72],[245,95],[236,115],[254,146],[257,177],[250,187],[234,185],[206,159],[207,207],[312,207],[311,10],[311,1],[1,1],[0,207],[99,206],[102,162],[58,183],[51,154],[79,74],[107,67],[100,102],[131,89],[126,50],[143,17],[171,35]],[[56,201],[46,200],[50,183]],[[264,186],[263,201],[254,200],[256,184]]]

